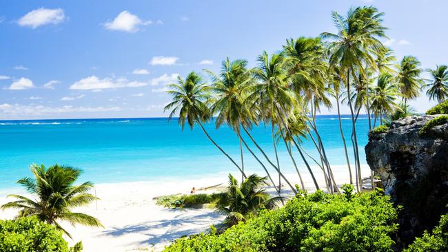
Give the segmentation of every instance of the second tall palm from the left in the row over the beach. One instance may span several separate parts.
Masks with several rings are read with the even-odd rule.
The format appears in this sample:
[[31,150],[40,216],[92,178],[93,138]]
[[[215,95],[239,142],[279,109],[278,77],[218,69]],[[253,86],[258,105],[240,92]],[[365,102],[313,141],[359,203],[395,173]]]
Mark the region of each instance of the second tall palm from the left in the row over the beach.
[[[221,73],[214,74],[205,70],[212,76],[212,91],[214,102],[212,114],[216,116],[216,128],[227,123],[238,136],[240,142],[241,169],[244,172],[243,145],[241,140],[241,124],[250,127],[251,113],[243,103],[243,88],[251,81],[250,72],[246,69],[247,61],[230,61],[227,58],[222,62]],[[242,180],[244,177],[242,177]]]

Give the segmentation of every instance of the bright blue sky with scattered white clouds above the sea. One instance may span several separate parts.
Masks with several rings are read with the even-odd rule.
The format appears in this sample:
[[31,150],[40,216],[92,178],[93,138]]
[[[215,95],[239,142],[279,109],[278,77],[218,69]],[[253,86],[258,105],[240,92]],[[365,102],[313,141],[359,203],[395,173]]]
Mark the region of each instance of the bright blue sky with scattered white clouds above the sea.
[[[445,0],[2,0],[0,120],[167,116],[177,76],[206,77],[227,56],[255,66],[286,39],[335,32],[332,11],[366,5],[385,12],[383,41],[398,59],[448,64]],[[410,104],[435,103],[422,93]]]

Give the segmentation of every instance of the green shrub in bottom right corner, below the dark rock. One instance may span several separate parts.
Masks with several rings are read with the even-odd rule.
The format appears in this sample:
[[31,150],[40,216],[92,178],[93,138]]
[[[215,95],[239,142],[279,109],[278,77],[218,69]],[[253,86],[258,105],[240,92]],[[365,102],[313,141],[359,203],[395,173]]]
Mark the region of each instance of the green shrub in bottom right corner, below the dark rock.
[[405,251],[448,251],[448,214],[445,214],[440,218],[440,222],[438,226],[434,228],[432,234],[425,231],[422,237],[416,238]]

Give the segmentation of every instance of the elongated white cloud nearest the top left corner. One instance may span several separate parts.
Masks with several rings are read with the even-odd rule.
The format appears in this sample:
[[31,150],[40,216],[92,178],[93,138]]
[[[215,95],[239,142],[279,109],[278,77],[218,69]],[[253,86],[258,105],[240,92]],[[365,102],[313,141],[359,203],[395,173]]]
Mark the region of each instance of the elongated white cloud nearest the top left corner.
[[54,25],[64,21],[65,15],[62,9],[45,9],[39,8],[28,12],[19,19],[20,26],[28,26],[30,28],[38,28],[41,25],[52,23]]

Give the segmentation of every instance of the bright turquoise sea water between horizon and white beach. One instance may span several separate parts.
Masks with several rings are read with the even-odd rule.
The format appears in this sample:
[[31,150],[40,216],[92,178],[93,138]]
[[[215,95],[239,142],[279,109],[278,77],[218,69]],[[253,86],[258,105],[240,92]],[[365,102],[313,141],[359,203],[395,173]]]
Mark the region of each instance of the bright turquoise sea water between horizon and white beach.
[[[318,116],[317,125],[331,164],[344,165],[337,116]],[[357,125],[361,162],[365,163],[367,117],[361,116]],[[350,147],[349,116],[343,116],[343,127]],[[238,139],[228,127],[216,130],[209,123],[205,128],[225,151],[240,160]],[[270,128],[254,127],[252,134],[274,160]],[[80,167],[84,170],[82,179],[95,183],[237,174],[199,127],[182,131],[176,120],[168,123],[166,118],[3,120],[0,143],[0,189],[14,187],[17,180],[29,176],[32,163]],[[312,142],[305,140],[303,147],[318,157]],[[281,167],[293,172],[283,142],[278,151]],[[250,154],[245,151],[244,155],[246,169],[262,174]],[[305,171],[298,156],[296,161]]]

